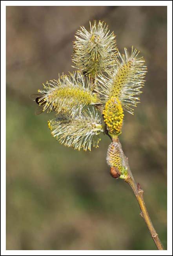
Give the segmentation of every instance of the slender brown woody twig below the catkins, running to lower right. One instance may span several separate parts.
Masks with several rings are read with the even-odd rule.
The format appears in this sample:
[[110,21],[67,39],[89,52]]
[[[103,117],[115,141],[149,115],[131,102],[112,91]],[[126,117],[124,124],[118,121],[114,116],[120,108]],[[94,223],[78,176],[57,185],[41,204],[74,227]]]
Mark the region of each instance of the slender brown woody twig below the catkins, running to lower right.
[[[113,141],[116,141],[122,148],[121,143],[118,138],[115,140],[113,139]],[[123,154],[124,154],[124,152],[123,152]],[[162,243],[158,237],[158,234],[153,226],[153,223],[151,222],[151,219],[149,217],[149,214],[148,214],[145,202],[144,202],[144,191],[142,190],[140,184],[139,183],[137,184],[135,182],[133,175],[131,173],[130,167],[129,167],[128,158],[126,158],[125,154],[124,154],[124,160],[126,161],[126,166],[127,166],[127,176],[125,178],[125,182],[127,182],[133,189],[133,192],[137,198],[137,201],[138,201],[138,204],[139,204],[139,207],[141,210],[140,215],[146,222],[149,232],[151,234],[151,237],[153,238],[155,245],[157,246],[157,249],[164,250],[163,245],[162,245]]]

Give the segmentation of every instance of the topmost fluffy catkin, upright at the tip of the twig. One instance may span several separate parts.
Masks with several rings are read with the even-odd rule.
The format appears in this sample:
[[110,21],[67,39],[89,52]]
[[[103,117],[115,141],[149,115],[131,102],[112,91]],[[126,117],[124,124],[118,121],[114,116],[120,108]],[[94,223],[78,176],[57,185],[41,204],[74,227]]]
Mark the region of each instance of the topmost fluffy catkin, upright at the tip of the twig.
[[117,45],[115,34],[109,33],[106,23],[90,22],[90,30],[81,26],[76,31],[73,42],[72,61],[76,68],[92,78],[117,63]]

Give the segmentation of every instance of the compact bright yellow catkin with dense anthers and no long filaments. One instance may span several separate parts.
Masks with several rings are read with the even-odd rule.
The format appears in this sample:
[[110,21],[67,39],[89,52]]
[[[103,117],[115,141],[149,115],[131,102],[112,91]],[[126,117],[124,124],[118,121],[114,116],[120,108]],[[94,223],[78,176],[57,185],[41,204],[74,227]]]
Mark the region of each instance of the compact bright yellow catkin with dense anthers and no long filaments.
[[124,113],[118,98],[111,97],[110,100],[106,102],[105,108],[103,110],[103,117],[109,134],[117,136],[120,135]]

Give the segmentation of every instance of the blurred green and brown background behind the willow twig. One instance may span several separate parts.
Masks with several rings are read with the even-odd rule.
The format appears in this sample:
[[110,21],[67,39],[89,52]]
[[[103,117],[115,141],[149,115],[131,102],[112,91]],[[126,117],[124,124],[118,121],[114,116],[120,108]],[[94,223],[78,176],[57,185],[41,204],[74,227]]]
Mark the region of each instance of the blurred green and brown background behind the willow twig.
[[148,66],[141,104],[120,141],[160,239],[167,246],[167,7],[8,6],[7,250],[155,250],[130,187],[109,175],[100,147],[78,152],[51,137],[29,99],[58,72],[73,71],[75,31],[101,19],[117,45]]

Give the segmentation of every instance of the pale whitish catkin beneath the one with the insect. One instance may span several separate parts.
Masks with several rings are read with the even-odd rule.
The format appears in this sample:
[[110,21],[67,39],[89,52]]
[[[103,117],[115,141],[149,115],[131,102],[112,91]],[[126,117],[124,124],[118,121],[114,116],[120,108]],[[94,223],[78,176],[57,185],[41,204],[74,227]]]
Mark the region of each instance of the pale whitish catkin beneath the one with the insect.
[[91,147],[98,147],[99,135],[104,132],[101,122],[99,113],[90,107],[75,117],[60,114],[48,121],[48,127],[60,144],[91,151]]

